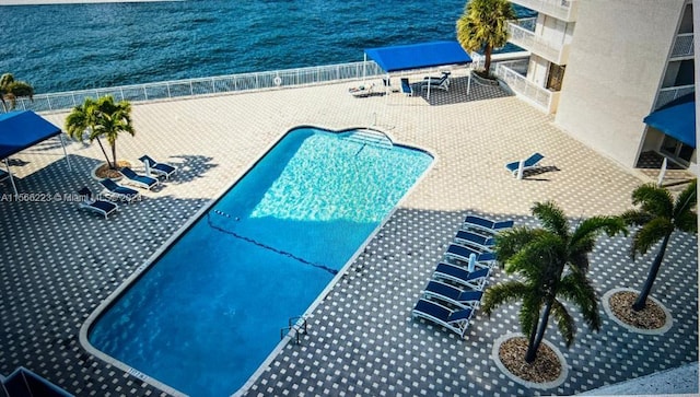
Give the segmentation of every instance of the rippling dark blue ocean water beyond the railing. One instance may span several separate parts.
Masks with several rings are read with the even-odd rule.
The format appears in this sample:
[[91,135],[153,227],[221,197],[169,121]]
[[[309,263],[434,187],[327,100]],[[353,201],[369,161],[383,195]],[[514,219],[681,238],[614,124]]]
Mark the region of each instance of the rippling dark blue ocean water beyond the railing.
[[184,0],[0,7],[0,72],[47,93],[361,61],[364,48],[454,39],[464,5]]

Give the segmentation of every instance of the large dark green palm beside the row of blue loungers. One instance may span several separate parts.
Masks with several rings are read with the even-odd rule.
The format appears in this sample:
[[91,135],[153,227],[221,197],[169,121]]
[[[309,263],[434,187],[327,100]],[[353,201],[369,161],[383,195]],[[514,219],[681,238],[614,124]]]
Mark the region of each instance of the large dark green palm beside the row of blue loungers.
[[617,217],[594,217],[581,222],[570,232],[563,212],[553,202],[536,202],[533,214],[542,227],[515,227],[497,236],[495,254],[505,272],[517,273],[521,280],[505,281],[487,290],[483,311],[487,315],[504,304],[523,301],[520,312],[521,329],[528,337],[525,361],[535,361],[552,315],[567,347],[574,340],[573,317],[560,299],[581,310],[584,320],[598,330],[597,295],[586,273],[588,254],[597,236],[605,232],[627,233]]

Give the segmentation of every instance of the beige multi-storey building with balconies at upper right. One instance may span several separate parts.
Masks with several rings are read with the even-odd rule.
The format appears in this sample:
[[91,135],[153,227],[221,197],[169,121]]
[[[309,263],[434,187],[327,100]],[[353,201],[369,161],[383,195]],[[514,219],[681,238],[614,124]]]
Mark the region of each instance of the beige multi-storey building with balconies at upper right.
[[626,166],[652,151],[697,173],[695,147],[643,121],[695,93],[691,0],[513,3],[538,12],[534,21],[510,25],[511,42],[530,51],[526,73],[513,78],[515,65],[497,67],[516,94]]

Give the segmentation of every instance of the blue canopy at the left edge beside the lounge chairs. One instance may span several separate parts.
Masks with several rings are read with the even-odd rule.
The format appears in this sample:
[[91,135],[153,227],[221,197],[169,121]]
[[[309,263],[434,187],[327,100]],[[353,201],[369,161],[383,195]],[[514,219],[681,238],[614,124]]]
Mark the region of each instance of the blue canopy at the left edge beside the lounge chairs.
[[0,115],[0,159],[7,159],[61,133],[61,129],[32,110]]

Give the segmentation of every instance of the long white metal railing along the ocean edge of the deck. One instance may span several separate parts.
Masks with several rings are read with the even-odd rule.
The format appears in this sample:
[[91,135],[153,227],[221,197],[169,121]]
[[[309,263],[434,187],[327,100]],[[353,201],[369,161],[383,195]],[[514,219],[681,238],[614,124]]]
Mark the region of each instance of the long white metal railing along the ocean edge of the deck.
[[[273,90],[316,85],[334,81],[372,78],[384,72],[374,61],[327,65],[310,68],[241,73],[213,78],[175,80],[158,83],[122,85],[95,90],[37,94],[34,100],[16,100],[15,109],[51,112],[66,110],[83,103],[86,97],[112,95],[117,101],[148,102],[198,95],[220,95],[233,92]],[[1,109],[0,109],[1,112]]]

